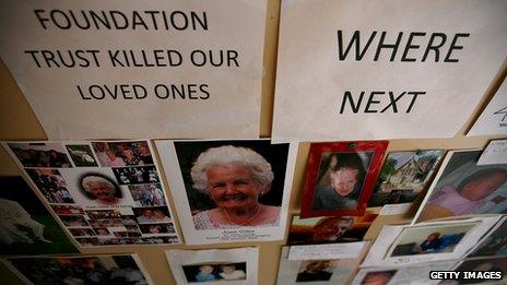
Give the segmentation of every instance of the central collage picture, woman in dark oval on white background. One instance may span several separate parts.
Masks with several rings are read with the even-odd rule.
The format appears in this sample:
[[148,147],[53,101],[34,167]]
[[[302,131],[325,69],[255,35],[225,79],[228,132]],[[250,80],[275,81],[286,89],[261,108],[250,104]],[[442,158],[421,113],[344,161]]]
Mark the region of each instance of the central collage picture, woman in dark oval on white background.
[[84,209],[133,206],[127,187],[116,180],[110,168],[60,169],[76,204]]

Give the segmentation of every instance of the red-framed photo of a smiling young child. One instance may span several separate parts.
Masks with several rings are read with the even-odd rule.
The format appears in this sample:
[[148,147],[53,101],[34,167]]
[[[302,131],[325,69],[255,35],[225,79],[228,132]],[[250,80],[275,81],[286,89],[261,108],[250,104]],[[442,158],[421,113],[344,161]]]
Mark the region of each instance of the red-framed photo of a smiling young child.
[[300,216],[363,215],[388,143],[313,143]]

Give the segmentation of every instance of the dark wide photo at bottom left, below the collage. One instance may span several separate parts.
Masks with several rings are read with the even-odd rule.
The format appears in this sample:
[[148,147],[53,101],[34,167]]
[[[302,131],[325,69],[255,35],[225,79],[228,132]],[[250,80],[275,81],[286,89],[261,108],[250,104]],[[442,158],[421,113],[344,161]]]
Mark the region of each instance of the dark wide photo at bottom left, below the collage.
[[33,284],[150,284],[135,254],[8,259]]

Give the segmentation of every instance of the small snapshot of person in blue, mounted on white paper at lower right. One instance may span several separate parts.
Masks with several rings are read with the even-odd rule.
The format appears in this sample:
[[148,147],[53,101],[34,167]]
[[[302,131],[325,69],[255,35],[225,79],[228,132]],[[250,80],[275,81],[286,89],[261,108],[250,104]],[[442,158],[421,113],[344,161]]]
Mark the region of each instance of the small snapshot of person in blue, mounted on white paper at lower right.
[[452,252],[476,223],[403,228],[388,257]]

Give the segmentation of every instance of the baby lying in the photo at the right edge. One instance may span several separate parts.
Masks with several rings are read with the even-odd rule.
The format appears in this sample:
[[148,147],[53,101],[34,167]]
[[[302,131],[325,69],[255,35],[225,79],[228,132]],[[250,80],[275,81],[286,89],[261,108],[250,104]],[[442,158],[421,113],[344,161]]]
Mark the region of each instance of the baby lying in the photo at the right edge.
[[446,185],[432,193],[420,221],[472,214],[506,181],[506,169],[486,168],[468,176],[457,188]]

